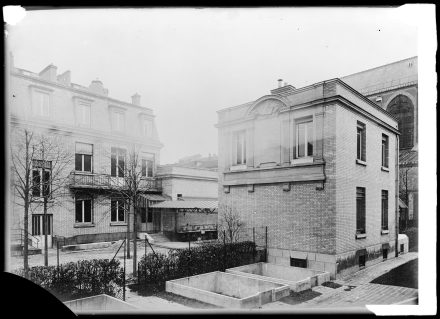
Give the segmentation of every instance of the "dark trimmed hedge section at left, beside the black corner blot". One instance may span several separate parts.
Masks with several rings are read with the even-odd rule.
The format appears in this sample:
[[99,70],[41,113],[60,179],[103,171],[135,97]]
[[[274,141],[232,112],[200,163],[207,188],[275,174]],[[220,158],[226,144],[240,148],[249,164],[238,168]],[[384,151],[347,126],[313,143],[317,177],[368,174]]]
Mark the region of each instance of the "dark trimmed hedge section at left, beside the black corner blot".
[[[24,269],[15,271],[24,277]],[[92,259],[57,266],[29,268],[29,279],[47,289],[62,301],[107,294],[122,293],[124,270],[119,260]]]

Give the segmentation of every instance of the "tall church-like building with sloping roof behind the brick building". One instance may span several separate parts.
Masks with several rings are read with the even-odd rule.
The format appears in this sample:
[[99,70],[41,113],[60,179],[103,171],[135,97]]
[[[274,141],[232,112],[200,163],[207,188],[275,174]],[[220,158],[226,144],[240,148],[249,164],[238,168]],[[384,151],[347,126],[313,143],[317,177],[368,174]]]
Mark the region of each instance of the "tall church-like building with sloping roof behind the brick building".
[[411,57],[341,78],[399,122],[401,228],[418,220],[418,65]]

